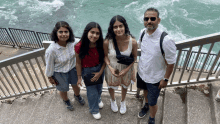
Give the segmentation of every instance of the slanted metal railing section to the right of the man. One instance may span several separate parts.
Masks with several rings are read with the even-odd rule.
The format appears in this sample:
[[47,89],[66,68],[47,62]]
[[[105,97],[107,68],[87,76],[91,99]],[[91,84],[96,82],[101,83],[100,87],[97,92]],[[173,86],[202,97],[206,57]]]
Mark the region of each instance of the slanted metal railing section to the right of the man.
[[[219,41],[220,41],[220,33],[214,33],[206,36],[201,36],[201,37],[177,42],[176,43],[176,47],[178,50],[177,61],[173,73],[170,77],[169,86],[219,81],[220,80],[219,77],[220,50],[217,51],[215,57],[213,57],[213,54],[211,53],[214,45],[217,44],[217,42]],[[207,45],[210,45],[210,47],[207,48]],[[196,48],[199,47],[199,49],[198,50],[193,49],[195,47]],[[202,49],[204,48],[208,49],[206,55],[204,55],[204,52],[201,52]],[[182,54],[184,52],[184,49],[189,49],[185,56],[183,56]],[[192,58],[192,56],[194,57]],[[181,57],[183,57],[183,59],[180,59]],[[213,59],[209,59],[209,58],[213,58]],[[190,59],[192,59],[192,61],[190,61]],[[190,65],[191,67],[188,66],[187,68],[187,64]],[[180,75],[176,75],[177,74],[176,71],[179,65],[181,65]],[[185,70],[188,71],[188,74],[186,74]],[[203,74],[204,71],[207,72],[206,75]],[[215,75],[211,76],[213,72],[215,72]],[[201,76],[202,74],[203,76]],[[177,78],[177,81],[174,81],[174,77],[176,76],[179,76],[179,78]],[[192,79],[192,76],[194,76],[194,79]]]

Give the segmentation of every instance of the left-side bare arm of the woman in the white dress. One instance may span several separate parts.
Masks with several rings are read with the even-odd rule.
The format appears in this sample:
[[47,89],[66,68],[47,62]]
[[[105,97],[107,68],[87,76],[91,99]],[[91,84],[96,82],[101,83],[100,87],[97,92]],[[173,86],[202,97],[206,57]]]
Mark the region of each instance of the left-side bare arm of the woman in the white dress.
[[104,61],[105,61],[106,65],[108,66],[108,68],[110,69],[111,73],[115,77],[118,77],[119,75],[115,73],[115,69],[112,68],[111,65],[110,65],[110,60],[108,58],[108,44],[109,44],[109,40],[105,40],[104,43],[103,43],[104,54],[105,54]]

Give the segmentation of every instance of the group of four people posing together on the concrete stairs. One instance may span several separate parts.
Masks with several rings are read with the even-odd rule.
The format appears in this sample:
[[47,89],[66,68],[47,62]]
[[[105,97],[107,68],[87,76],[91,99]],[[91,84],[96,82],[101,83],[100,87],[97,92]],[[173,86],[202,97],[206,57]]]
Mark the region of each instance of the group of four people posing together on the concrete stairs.
[[[118,112],[114,90],[121,86],[120,113],[126,113],[126,93],[131,81],[135,80],[134,62],[137,59],[137,48],[141,49],[138,63],[137,87],[144,90],[145,105],[138,113],[143,118],[150,111],[149,124],[155,123],[157,99],[161,88],[166,87],[173,66],[176,62],[176,46],[169,35],[164,37],[161,54],[160,39],[162,31],[159,12],[149,8],[144,13],[144,26],[138,42],[131,35],[124,17],[114,16],[109,23],[108,32],[103,39],[102,29],[96,22],[86,25],[79,42],[74,42],[74,34],[67,22],[57,22],[51,43],[45,53],[46,76],[49,82],[56,85],[67,109],[73,106],[67,96],[69,84],[72,85],[75,99],[81,104],[85,100],[80,95],[79,86],[82,79],[86,85],[89,111],[95,119],[100,119],[99,109],[104,103],[101,99],[103,80],[107,82],[110,94],[111,109]],[[119,53],[117,50],[119,50]],[[132,58],[129,64],[118,60],[118,54]]]

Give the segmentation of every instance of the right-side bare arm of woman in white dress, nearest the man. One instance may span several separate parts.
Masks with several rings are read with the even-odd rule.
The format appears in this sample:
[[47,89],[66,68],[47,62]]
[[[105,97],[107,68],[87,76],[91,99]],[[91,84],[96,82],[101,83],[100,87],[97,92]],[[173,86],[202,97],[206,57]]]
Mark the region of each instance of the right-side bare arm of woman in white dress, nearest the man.
[[131,63],[127,68],[123,69],[119,73],[119,76],[124,76],[129,71],[129,69],[134,65],[134,63],[137,60],[137,41],[134,38],[132,38],[132,55],[134,57],[134,62]]

